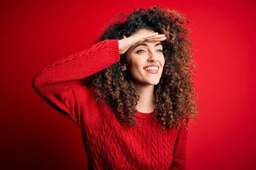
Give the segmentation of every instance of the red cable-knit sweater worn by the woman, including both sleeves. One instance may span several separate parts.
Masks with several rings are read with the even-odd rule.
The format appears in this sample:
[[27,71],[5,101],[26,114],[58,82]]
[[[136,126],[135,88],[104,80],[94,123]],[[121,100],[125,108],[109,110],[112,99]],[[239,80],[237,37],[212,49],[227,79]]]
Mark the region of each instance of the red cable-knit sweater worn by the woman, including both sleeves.
[[186,131],[166,128],[137,112],[138,127],[126,130],[92,87],[80,80],[119,62],[118,40],[104,40],[38,72],[35,91],[81,129],[89,169],[186,169]]

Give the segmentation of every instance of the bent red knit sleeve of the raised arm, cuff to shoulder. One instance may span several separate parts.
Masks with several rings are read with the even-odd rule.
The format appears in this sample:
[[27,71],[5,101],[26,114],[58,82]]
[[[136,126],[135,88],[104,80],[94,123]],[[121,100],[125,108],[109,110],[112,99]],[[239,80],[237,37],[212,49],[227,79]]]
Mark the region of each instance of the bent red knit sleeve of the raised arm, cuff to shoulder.
[[87,101],[92,95],[80,80],[116,62],[119,62],[118,40],[104,40],[42,69],[32,79],[32,87],[49,105],[81,128],[83,121],[93,118],[93,111],[84,113],[90,109],[81,108],[81,103],[90,107]]

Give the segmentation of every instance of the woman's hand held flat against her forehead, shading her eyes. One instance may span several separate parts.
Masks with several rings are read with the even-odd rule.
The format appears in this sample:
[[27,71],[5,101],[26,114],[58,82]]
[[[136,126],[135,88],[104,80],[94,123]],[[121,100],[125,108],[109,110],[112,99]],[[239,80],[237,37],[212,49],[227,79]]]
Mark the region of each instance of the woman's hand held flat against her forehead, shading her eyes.
[[131,37],[125,37],[122,40],[119,40],[119,54],[124,54],[132,45],[141,42],[157,42],[166,40],[164,34],[159,34],[158,32],[150,33],[150,34],[134,34]]

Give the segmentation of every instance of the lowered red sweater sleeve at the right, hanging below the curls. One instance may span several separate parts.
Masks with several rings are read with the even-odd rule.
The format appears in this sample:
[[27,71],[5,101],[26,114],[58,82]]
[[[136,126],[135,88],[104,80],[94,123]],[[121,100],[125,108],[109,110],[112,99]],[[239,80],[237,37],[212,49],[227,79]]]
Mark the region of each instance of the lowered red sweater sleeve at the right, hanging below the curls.
[[[187,125],[187,119],[185,124]],[[173,150],[173,159],[170,170],[186,170],[186,136],[187,132],[184,129],[184,125],[180,123],[180,129],[175,141]]]

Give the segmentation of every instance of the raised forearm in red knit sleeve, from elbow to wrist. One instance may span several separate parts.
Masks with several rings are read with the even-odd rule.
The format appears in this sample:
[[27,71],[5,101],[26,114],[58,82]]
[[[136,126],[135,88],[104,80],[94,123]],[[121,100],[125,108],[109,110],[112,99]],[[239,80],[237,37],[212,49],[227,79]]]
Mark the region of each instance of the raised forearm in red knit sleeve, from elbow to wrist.
[[49,65],[35,75],[33,82],[48,84],[82,79],[115,62],[119,62],[118,40],[105,40]]

